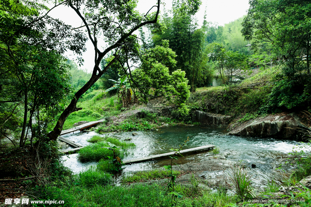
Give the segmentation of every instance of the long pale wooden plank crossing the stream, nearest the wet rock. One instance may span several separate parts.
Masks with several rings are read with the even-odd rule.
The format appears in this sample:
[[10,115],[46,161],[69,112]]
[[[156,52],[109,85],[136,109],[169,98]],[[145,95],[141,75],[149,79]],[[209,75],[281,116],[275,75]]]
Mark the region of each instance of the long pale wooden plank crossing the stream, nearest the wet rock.
[[[189,153],[189,152],[198,152],[198,151],[206,151],[206,150],[211,150],[215,147],[215,145],[206,145],[206,146],[199,146],[199,147],[194,147],[186,150],[181,150],[180,154],[184,153]],[[131,163],[138,163],[138,162],[145,162],[148,160],[153,160],[161,157],[167,157],[167,156],[172,156],[174,155],[174,152],[168,152],[160,155],[152,155],[152,156],[147,156],[147,157],[142,157],[142,158],[136,158],[132,160],[125,160],[123,161],[123,164],[131,164]]]

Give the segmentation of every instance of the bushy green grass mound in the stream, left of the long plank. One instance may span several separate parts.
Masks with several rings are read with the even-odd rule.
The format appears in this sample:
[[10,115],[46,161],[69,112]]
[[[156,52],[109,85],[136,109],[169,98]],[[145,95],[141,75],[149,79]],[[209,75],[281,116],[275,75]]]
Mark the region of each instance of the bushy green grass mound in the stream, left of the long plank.
[[[109,147],[107,142],[113,143],[116,146],[121,146],[124,149],[129,149],[135,147],[134,143],[131,142],[120,142],[118,139],[107,137],[106,141],[92,143],[88,146],[83,147],[79,150],[77,159],[81,162],[86,161],[99,161],[101,159],[105,160],[108,159],[107,156],[113,157],[113,152],[107,148],[102,147]],[[123,159],[124,155],[126,155],[127,151],[124,152],[117,152],[117,156]]]

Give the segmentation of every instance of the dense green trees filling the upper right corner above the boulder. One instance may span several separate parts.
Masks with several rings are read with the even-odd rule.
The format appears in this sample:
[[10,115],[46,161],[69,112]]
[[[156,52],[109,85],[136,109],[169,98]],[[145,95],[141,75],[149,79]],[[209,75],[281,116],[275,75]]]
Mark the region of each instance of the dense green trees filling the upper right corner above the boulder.
[[270,94],[273,109],[309,105],[310,9],[310,1],[250,1],[242,34],[254,49],[268,46],[271,62],[282,67]]

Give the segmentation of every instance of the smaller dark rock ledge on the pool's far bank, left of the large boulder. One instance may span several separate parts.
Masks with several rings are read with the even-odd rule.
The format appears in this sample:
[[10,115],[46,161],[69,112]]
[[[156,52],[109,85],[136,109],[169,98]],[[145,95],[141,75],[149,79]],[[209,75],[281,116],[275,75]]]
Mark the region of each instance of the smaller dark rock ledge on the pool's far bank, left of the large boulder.
[[210,114],[196,110],[192,115],[192,119],[193,122],[199,122],[201,125],[224,127],[230,123],[231,116]]

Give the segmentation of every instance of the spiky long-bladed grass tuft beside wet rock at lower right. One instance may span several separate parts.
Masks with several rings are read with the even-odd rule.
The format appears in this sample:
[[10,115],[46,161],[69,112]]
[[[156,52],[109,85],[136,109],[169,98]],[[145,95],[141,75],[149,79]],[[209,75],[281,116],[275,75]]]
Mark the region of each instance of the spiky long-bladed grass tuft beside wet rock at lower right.
[[237,195],[244,201],[253,198],[255,195],[251,185],[253,175],[248,175],[243,167],[244,165],[242,167],[231,165],[229,178],[233,182]]

